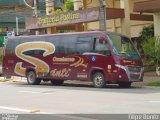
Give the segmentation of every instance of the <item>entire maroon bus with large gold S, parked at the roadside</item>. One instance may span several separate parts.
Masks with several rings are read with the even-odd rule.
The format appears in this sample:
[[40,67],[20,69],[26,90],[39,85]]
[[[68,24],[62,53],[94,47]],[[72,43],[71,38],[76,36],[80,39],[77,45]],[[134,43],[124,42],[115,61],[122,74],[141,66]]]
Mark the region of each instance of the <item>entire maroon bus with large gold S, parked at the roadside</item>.
[[143,63],[129,38],[118,33],[91,31],[8,38],[3,74],[27,77],[28,84],[51,80],[92,81],[95,87],[130,87],[143,80]]

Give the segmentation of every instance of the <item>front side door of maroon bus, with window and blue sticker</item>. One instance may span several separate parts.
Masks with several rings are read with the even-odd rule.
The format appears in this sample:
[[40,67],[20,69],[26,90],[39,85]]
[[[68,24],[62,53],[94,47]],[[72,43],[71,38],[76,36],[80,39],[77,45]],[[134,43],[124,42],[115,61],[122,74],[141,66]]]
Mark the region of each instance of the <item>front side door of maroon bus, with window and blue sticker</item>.
[[91,56],[93,69],[102,70],[107,80],[113,78],[114,59],[111,54],[109,42],[105,36],[95,36],[93,44],[93,53]]

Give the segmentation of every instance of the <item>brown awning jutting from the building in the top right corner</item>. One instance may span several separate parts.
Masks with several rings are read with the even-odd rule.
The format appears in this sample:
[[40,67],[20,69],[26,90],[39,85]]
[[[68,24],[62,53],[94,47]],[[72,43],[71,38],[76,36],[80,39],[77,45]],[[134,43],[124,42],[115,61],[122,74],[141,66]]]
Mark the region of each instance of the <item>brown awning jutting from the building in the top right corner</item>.
[[134,3],[134,12],[160,12],[160,0],[148,0]]

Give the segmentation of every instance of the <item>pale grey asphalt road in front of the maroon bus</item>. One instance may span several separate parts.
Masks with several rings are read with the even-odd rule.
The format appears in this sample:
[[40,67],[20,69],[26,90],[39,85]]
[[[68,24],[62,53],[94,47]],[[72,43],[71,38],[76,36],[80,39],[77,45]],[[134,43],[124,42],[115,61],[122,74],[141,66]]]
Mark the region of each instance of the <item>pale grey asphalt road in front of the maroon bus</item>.
[[159,114],[160,88],[107,86],[98,89],[89,84],[33,86],[24,81],[0,82],[0,113],[49,114],[56,120],[105,120],[106,114]]

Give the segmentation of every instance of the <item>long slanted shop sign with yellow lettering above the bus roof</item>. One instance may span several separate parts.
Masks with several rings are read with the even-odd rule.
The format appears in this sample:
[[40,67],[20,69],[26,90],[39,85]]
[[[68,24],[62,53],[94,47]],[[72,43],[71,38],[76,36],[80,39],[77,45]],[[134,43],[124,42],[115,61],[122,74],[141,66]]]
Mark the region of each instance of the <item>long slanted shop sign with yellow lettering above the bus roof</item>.
[[43,16],[26,19],[26,29],[38,29],[51,26],[62,26],[83,22],[91,22],[99,19],[99,8],[89,8],[54,16]]

